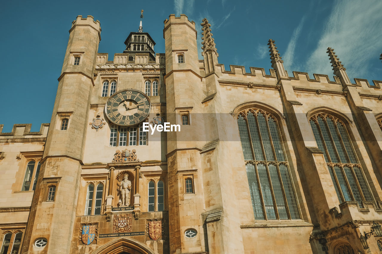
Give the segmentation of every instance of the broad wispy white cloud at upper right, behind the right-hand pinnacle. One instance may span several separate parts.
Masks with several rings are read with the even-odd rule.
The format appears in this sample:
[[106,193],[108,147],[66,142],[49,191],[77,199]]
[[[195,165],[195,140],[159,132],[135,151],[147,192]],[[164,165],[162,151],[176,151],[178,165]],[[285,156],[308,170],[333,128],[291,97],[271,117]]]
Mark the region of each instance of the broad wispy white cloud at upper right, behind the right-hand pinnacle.
[[333,73],[325,53],[327,47],[332,47],[350,78],[370,75],[371,59],[382,48],[380,13],[380,0],[337,0],[317,48],[306,63],[308,72]]

